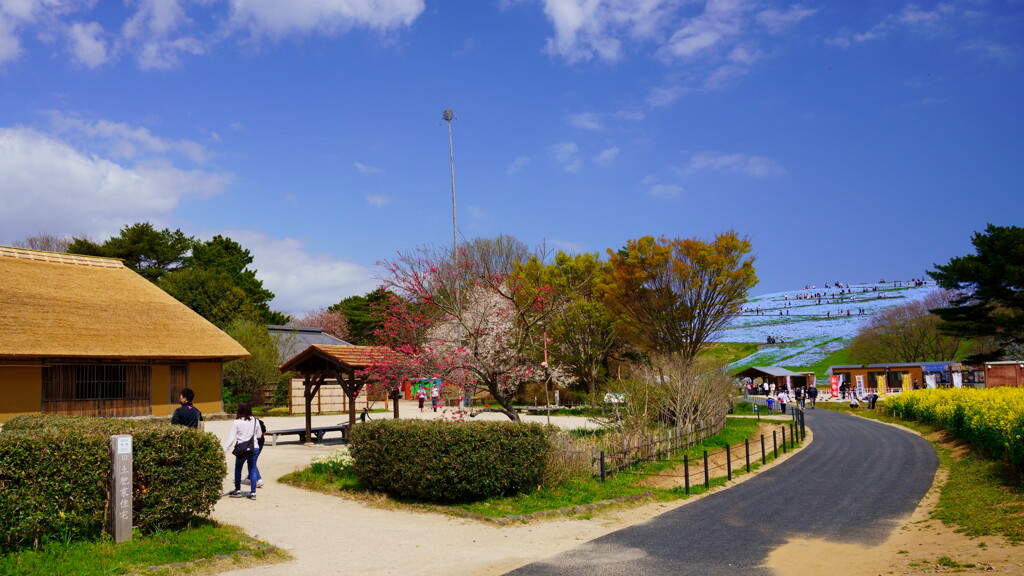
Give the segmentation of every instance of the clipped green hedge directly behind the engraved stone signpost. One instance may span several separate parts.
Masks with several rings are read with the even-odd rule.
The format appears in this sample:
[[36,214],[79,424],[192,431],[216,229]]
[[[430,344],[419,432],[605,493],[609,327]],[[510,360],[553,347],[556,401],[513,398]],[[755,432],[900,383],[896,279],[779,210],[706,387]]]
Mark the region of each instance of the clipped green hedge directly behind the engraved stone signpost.
[[110,437],[132,435],[133,525],[144,532],[209,516],[226,474],[220,442],[167,423],[16,416],[0,430],[0,548],[89,539],[104,529]]

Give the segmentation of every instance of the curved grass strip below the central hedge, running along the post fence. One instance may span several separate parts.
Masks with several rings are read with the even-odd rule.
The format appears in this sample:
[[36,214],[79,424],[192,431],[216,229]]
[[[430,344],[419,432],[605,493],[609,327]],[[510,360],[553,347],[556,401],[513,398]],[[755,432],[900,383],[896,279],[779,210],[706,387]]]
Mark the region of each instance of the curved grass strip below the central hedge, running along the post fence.
[[[780,422],[782,425],[782,422]],[[620,471],[607,478],[606,482],[601,482],[599,478],[577,478],[566,481],[558,486],[541,486],[538,490],[528,494],[520,494],[504,498],[490,498],[479,502],[458,504],[451,506],[459,510],[476,513],[488,518],[501,518],[510,515],[523,516],[544,510],[557,510],[570,508],[572,506],[583,506],[595,502],[613,500],[628,496],[636,496],[644,492],[650,492],[651,498],[656,500],[675,500],[687,497],[682,488],[650,488],[641,482],[652,474],[682,465],[683,456],[688,455],[690,459],[691,472],[696,474],[700,458],[705,450],[712,453],[721,450],[727,444],[736,445],[743,442],[756,434],[758,421],[752,418],[729,418],[725,428],[721,434],[705,440],[702,443],[692,446],[686,450],[673,455],[671,459],[653,462],[642,462],[631,469]],[[769,453],[769,461],[773,455]],[[760,467],[760,459],[752,461],[752,471]],[[735,463],[733,477],[745,474],[739,463]],[[437,506],[418,504],[415,502],[397,502],[381,494],[370,493],[364,489],[355,478],[354,474],[346,472],[342,476],[329,477],[318,475],[309,468],[293,472],[284,479],[286,482],[302,488],[316,490],[329,494],[344,497],[364,499],[382,505],[402,505],[413,507],[437,508]],[[712,479],[711,486],[717,487],[726,482],[725,478]],[[691,494],[705,492],[703,484],[694,483],[690,487]]]

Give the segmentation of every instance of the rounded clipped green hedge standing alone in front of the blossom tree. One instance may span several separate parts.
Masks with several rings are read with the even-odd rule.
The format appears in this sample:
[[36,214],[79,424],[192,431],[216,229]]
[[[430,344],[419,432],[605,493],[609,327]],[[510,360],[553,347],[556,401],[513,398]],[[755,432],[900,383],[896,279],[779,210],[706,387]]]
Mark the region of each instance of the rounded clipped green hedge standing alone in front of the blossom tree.
[[373,490],[469,502],[535,490],[551,443],[536,423],[376,420],[352,429],[355,474]]

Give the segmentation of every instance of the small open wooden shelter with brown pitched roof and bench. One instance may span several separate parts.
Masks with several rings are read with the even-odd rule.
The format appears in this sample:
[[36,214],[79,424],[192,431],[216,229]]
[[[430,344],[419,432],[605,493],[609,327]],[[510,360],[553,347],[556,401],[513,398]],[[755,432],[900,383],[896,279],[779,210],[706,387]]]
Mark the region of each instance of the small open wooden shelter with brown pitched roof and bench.
[[[295,372],[302,376],[303,398],[306,403],[306,437],[312,442],[312,401],[327,380],[337,380],[348,399],[348,429],[355,426],[355,397],[366,380],[356,377],[365,370],[385,359],[391,351],[383,346],[311,345],[281,365],[282,372]],[[398,403],[395,402],[395,417]]]

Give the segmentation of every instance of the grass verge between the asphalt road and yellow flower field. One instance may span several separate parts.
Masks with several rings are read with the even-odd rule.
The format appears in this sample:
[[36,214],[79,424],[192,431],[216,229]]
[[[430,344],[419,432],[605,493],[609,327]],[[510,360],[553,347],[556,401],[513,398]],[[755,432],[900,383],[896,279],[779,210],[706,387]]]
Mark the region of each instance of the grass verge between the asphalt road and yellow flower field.
[[880,410],[851,410],[845,404],[819,403],[818,408],[855,413],[864,418],[895,423],[916,430],[939,455],[939,466],[948,471],[934,518],[968,536],[1000,535],[1024,542],[1024,487],[1010,465],[969,445],[936,434],[935,427],[895,418]]

